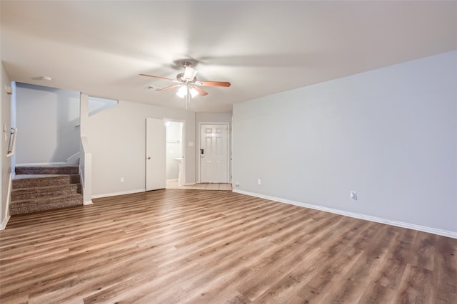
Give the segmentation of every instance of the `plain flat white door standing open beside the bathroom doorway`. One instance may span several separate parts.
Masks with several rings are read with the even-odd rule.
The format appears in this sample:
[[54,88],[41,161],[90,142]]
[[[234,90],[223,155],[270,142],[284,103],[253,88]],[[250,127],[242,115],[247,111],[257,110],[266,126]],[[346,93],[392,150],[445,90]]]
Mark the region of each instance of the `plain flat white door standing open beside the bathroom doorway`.
[[146,191],[164,189],[166,129],[164,120],[146,118]]

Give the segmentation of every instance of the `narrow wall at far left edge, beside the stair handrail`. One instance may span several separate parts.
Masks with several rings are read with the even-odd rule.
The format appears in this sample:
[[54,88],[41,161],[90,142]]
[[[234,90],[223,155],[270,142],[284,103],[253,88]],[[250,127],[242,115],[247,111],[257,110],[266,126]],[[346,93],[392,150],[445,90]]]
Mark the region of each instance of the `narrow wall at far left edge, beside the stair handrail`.
[[[1,58],[0,58],[1,63]],[[6,94],[5,85],[11,86],[11,81],[6,70],[1,63],[0,73],[0,115],[1,115],[1,137],[0,137],[0,151],[1,151],[1,174],[0,174],[0,230],[5,229],[6,223],[9,219],[8,204],[9,204],[9,187],[11,179],[11,159],[6,157],[9,147],[9,136],[11,132],[11,95]],[[6,132],[3,127],[5,126]],[[6,137],[5,137],[6,135]]]

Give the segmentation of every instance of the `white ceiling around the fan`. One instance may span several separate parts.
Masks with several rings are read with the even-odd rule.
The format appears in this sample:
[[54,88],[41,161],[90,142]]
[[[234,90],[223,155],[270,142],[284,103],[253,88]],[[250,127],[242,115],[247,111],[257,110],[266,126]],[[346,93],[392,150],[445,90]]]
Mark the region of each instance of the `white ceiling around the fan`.
[[[4,1],[1,61],[11,80],[184,108],[157,92],[190,59],[230,88],[196,112],[457,49],[456,1]],[[53,80],[33,80],[37,76]]]

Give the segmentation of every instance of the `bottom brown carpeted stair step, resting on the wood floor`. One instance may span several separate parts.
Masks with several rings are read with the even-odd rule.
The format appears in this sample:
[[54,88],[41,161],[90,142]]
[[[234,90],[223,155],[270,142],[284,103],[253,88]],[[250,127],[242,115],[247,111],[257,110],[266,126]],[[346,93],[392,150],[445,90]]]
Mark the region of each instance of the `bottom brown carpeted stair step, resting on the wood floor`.
[[67,194],[51,198],[22,199],[11,201],[9,212],[11,215],[29,214],[33,212],[61,209],[69,206],[81,206],[83,204],[82,194]]

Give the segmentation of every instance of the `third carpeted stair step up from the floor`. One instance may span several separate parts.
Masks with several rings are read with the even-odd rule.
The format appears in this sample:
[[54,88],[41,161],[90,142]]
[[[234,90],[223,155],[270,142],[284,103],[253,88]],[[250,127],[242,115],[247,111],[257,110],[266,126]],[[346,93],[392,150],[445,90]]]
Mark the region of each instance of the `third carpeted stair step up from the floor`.
[[28,187],[47,187],[49,185],[79,184],[79,174],[71,175],[26,175],[13,179],[13,189]]

